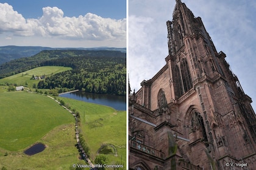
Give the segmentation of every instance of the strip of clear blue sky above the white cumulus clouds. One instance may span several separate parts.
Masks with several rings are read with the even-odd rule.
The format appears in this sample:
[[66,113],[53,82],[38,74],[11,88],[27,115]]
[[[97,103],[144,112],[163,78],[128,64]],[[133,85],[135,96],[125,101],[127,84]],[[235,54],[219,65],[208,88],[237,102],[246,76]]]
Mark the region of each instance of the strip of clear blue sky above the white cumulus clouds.
[[21,13],[24,18],[38,18],[43,15],[43,7],[58,7],[64,12],[64,16],[79,16],[86,13],[94,13],[103,18],[123,19],[126,18],[126,1],[116,0],[96,0],[96,1],[81,1],[81,0],[7,0],[12,5],[13,9]]

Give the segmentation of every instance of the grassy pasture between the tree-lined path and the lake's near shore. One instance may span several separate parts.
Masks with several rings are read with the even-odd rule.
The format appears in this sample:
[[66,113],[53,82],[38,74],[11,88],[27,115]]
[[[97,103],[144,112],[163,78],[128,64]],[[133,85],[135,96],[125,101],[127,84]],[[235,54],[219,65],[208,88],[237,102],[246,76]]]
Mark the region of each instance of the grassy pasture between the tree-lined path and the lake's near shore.
[[90,148],[91,160],[94,161],[102,144],[112,144],[118,155],[107,154],[108,163],[123,161],[126,165],[126,111],[69,98],[60,99],[80,113],[79,128]]

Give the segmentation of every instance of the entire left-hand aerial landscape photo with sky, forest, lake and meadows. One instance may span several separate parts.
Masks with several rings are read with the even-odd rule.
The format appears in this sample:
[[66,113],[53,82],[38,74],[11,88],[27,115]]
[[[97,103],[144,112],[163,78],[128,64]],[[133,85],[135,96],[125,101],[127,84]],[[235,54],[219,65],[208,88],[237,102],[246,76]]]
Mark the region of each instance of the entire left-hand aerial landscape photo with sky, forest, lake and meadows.
[[97,3],[0,1],[1,169],[127,168],[126,2]]

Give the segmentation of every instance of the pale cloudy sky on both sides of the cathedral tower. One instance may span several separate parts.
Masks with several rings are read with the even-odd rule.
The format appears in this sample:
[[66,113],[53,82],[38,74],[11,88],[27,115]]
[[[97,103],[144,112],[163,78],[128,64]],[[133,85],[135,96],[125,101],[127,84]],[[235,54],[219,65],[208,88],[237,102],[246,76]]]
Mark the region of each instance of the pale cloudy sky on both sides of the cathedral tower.
[[[240,80],[256,110],[256,1],[182,0],[200,16],[217,51]],[[129,0],[129,80],[136,91],[165,65],[168,55],[166,21],[172,20],[174,0]]]

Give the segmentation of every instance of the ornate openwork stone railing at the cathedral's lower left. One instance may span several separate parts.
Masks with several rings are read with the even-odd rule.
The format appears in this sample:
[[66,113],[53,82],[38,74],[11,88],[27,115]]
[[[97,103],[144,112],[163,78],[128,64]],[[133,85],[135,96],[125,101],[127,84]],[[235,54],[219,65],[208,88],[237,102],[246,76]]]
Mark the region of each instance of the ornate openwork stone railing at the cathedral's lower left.
[[132,141],[131,147],[158,158],[165,158],[165,153],[157,151],[156,149],[150,148],[144,144],[137,143],[136,141]]

